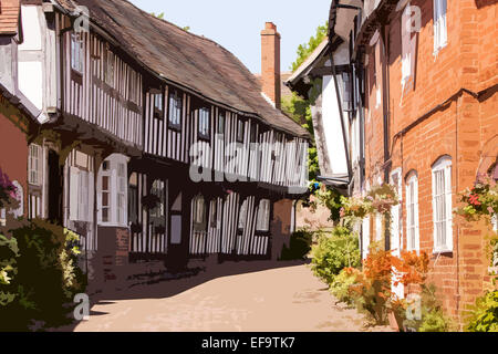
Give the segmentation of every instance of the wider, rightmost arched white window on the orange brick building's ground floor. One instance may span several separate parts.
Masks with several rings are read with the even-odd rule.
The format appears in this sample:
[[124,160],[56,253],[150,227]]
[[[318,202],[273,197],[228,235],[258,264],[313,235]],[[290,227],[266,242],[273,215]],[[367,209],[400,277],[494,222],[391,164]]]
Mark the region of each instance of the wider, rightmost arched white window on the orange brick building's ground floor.
[[433,220],[434,252],[452,252],[452,158],[447,156],[433,166]]

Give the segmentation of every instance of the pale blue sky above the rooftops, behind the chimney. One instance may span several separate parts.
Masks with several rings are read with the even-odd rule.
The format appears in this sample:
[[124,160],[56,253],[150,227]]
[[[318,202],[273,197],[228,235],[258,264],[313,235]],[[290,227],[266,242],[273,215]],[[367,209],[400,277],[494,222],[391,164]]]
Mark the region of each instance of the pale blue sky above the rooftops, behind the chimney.
[[[135,6],[222,45],[252,73],[261,72],[261,30],[273,22],[281,35],[281,70],[291,71],[299,44],[329,19],[331,0],[131,0]],[[312,3],[312,6],[308,6]]]

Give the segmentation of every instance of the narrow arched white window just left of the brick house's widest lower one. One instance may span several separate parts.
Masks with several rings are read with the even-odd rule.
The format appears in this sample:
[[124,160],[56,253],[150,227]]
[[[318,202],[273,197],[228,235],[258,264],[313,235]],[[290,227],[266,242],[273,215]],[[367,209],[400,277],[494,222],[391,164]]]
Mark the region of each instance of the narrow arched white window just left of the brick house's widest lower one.
[[406,248],[408,251],[421,250],[418,177],[415,171],[412,171],[406,179]]

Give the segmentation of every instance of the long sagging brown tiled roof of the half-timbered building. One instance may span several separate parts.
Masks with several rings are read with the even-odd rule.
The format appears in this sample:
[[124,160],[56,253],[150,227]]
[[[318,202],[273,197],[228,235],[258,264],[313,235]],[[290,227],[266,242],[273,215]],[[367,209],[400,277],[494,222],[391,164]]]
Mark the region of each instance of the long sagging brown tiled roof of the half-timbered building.
[[[291,135],[308,132],[261,95],[258,80],[229,51],[156,19],[125,0],[59,0],[66,10],[87,7],[91,20],[155,73]],[[241,43],[243,45],[243,43]]]

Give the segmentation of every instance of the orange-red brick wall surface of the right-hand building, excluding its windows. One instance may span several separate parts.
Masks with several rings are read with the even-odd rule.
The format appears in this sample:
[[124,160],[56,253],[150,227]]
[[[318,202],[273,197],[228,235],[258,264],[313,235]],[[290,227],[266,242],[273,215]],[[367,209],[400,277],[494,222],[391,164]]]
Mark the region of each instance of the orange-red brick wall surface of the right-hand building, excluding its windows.
[[[416,48],[415,85],[403,98],[401,13],[386,27],[388,146],[392,170],[403,167],[403,177],[411,170],[418,174],[421,249],[433,254],[433,164],[440,156],[452,157],[455,207],[456,194],[470,187],[479,169],[489,168],[498,154],[498,94],[494,88],[498,83],[498,7],[496,2],[478,7],[475,0],[448,1],[448,44],[434,56],[433,0],[411,3],[422,9],[422,30]],[[382,105],[375,108],[374,50],[370,49],[367,54],[366,178],[374,184],[377,176],[383,177],[385,163],[383,108]],[[487,94],[475,95],[487,88]],[[424,121],[395,138],[398,132],[430,111]],[[406,209],[403,212],[406,216]],[[405,218],[404,222],[406,235]],[[483,293],[484,282],[488,280],[484,248],[490,227],[454,225],[453,230],[454,252],[439,258],[433,256],[430,281],[436,284],[445,309],[457,316]]]

